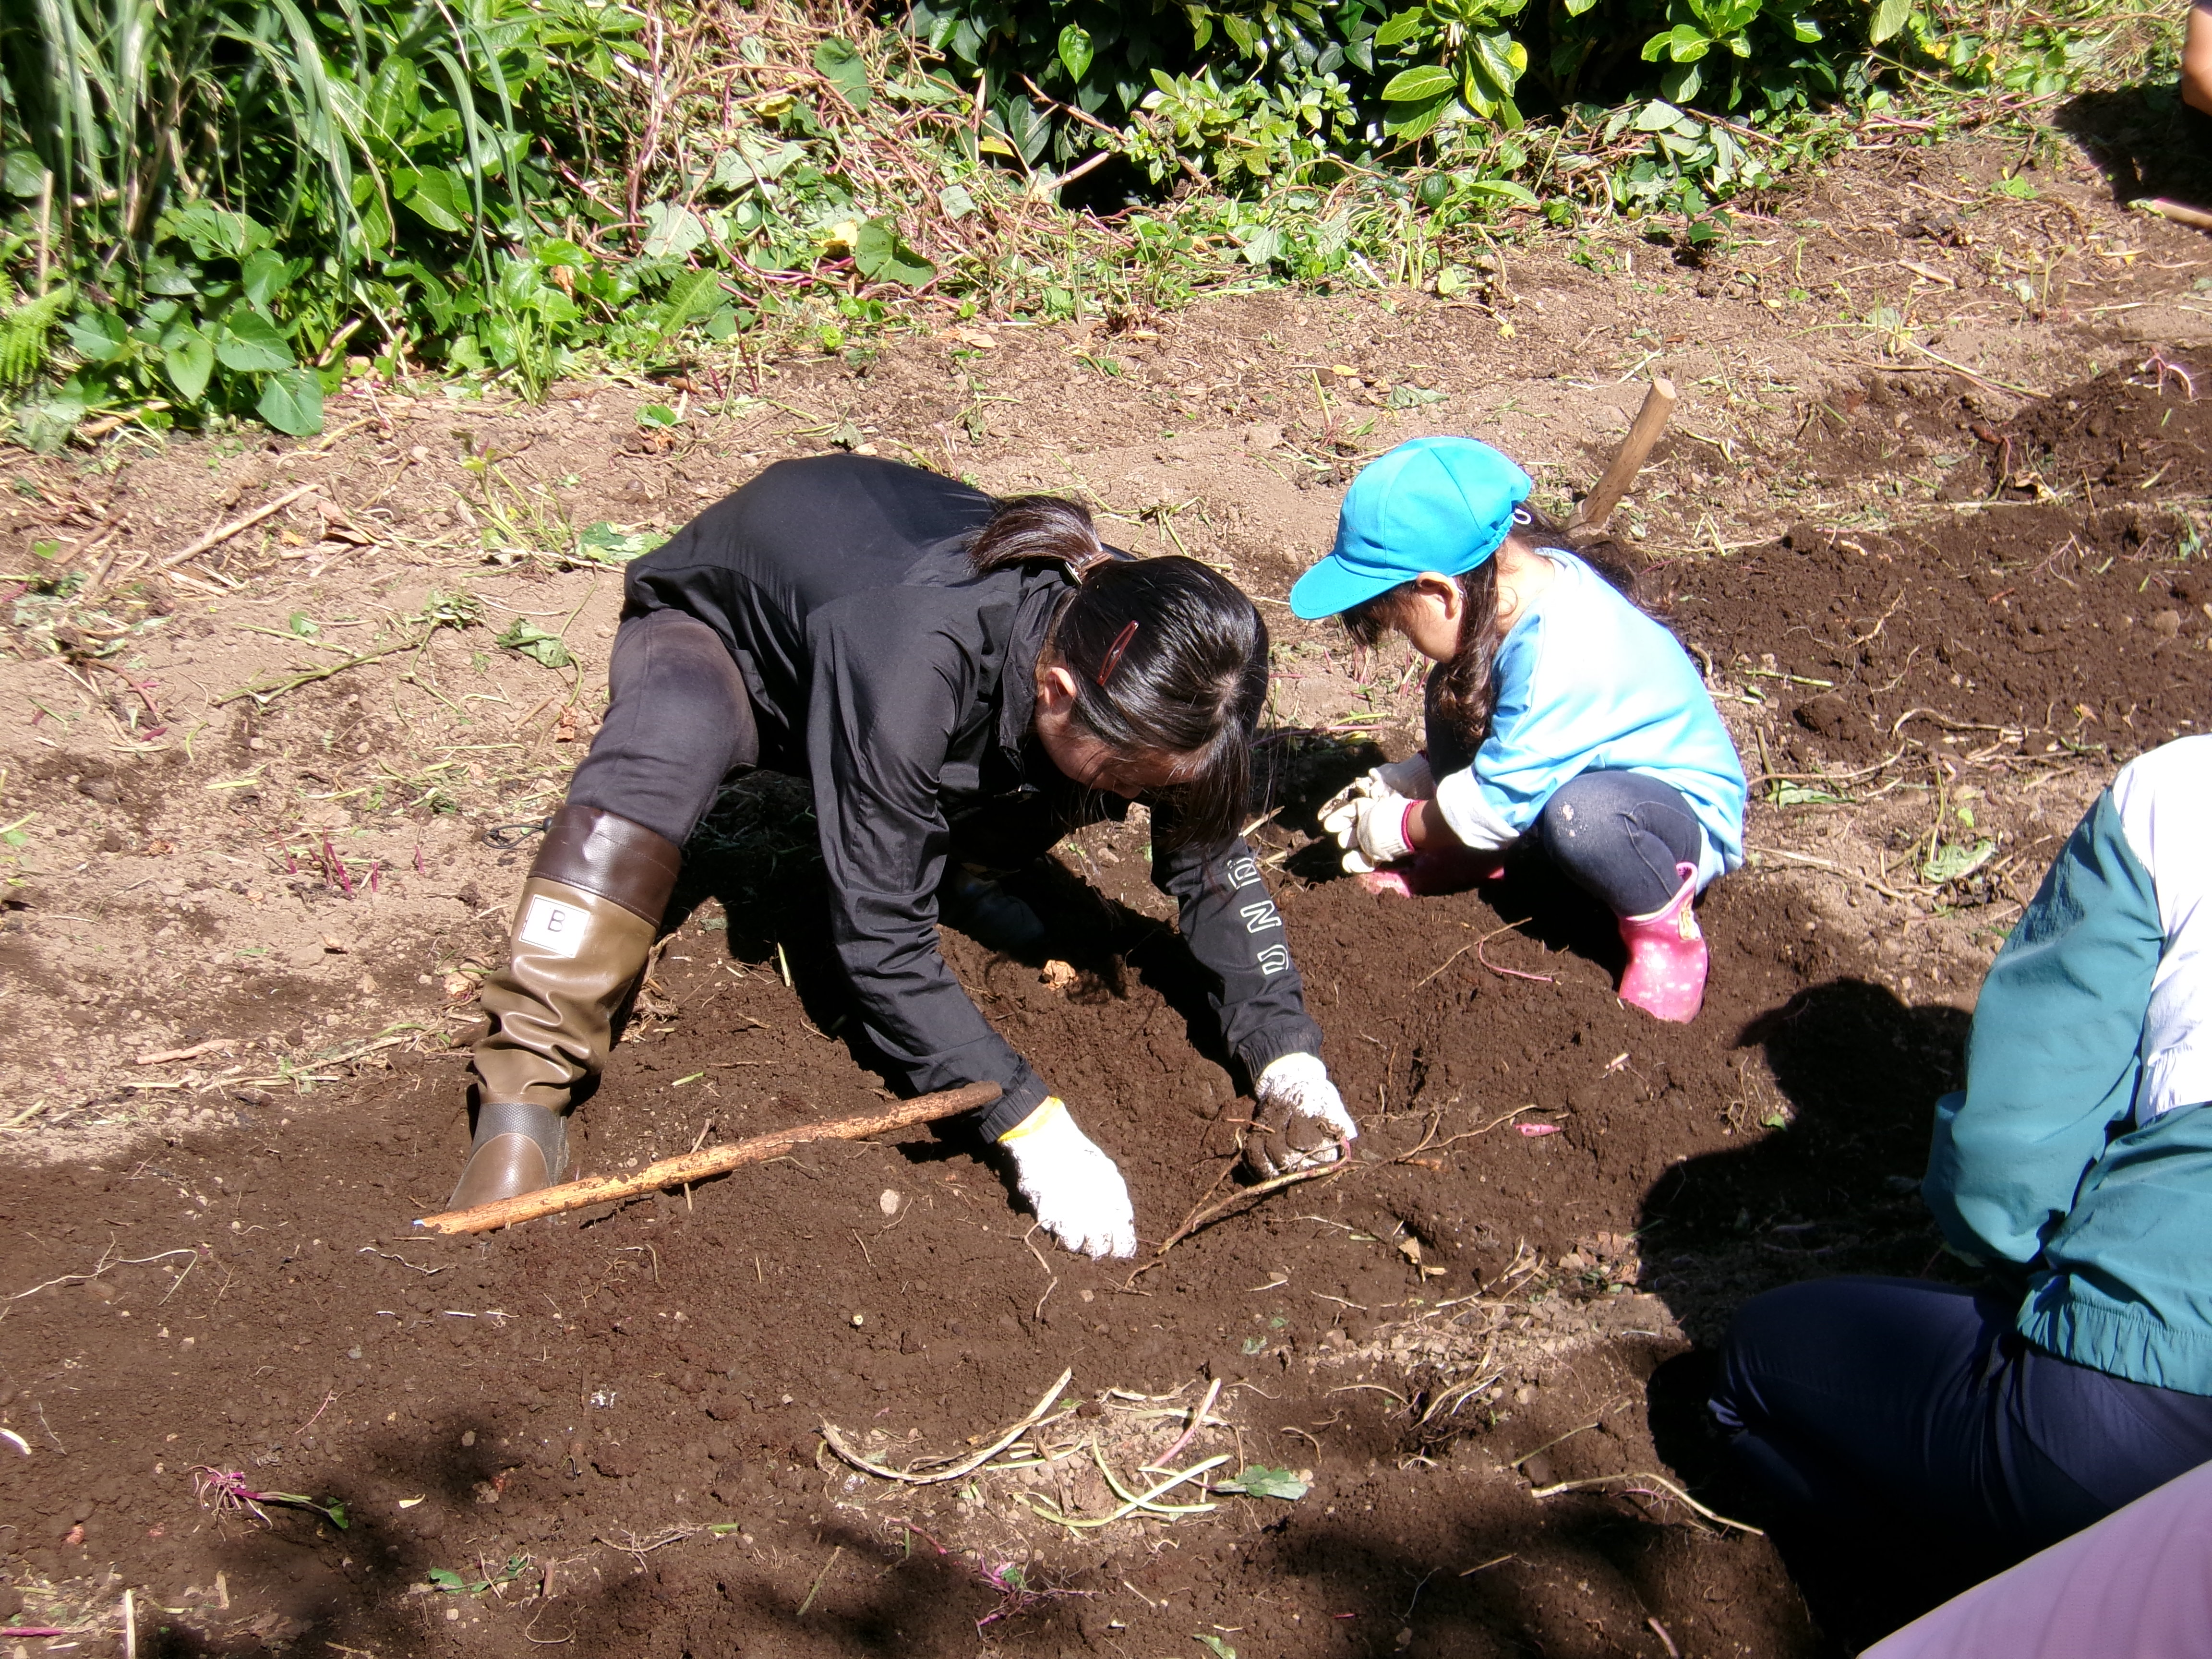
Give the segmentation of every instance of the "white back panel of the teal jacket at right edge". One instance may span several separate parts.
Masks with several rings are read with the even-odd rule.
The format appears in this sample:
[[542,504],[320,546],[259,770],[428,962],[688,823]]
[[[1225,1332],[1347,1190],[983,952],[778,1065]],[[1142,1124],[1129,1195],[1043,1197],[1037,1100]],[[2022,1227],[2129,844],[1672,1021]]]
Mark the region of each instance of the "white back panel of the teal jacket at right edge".
[[2112,805],[2157,887],[2166,933],[2135,1088],[2135,1121],[2148,1124],[2212,1099],[2212,737],[2183,737],[2124,765]]

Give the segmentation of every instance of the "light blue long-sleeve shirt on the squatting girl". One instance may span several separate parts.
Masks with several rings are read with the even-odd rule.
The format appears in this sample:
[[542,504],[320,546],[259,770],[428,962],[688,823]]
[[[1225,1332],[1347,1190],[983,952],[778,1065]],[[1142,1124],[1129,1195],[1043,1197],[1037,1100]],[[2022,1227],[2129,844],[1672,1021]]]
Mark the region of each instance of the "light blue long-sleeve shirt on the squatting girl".
[[1436,805],[1475,852],[1504,847],[1584,772],[1644,772],[1690,803],[1705,849],[1697,885],[1743,863],[1743,763],[1697,664],[1573,553],[1513,622],[1491,670],[1491,734]]

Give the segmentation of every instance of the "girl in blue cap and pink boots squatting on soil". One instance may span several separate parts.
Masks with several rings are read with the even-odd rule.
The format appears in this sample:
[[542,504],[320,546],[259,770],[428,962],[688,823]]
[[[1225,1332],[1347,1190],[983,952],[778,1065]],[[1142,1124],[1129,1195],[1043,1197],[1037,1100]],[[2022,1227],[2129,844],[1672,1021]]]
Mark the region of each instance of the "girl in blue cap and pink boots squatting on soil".
[[1398,896],[1535,841],[1619,916],[1621,1002],[1686,1022],[1708,962],[1692,905],[1743,863],[1743,763],[1674,635],[1528,489],[1473,438],[1416,438],[1352,480],[1290,608],[1343,617],[1360,646],[1400,633],[1436,668],[1427,750],[1356,779],[1321,825],[1345,869]]

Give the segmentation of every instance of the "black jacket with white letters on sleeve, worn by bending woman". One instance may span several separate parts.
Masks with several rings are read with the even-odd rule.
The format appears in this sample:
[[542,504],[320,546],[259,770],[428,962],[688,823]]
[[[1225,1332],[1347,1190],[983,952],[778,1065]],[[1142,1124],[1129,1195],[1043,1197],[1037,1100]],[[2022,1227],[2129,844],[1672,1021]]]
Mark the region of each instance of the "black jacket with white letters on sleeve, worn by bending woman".
[[[1077,790],[1029,732],[1037,653],[1071,582],[1055,568],[975,575],[964,542],[991,509],[967,484],[889,460],[776,462],[630,564],[626,615],[684,611],[728,644],[761,765],[814,783],[832,942],[869,1040],[916,1091],[1002,1084],[982,1124],[998,1135],[1051,1091],[938,951],[949,821]],[[1152,880],[1221,980],[1214,1006],[1237,1057],[1259,1073],[1318,1053],[1252,849],[1161,852]]]

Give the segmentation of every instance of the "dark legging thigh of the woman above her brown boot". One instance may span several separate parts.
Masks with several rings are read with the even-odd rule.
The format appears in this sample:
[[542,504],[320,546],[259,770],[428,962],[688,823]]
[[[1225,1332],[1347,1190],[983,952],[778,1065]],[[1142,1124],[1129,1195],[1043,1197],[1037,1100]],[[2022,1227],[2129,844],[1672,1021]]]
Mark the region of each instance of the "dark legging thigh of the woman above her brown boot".
[[641,823],[681,847],[721,781],[761,759],[745,679],[699,617],[648,611],[615,633],[606,688],[606,721],[568,781],[568,803]]

